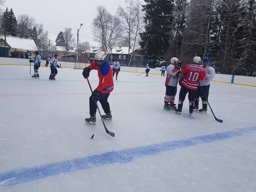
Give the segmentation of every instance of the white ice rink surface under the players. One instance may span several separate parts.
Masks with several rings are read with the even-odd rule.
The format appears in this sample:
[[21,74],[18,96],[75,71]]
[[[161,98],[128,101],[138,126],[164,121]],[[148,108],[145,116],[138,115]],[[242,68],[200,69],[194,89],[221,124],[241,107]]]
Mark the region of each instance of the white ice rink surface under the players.
[[[256,192],[256,87],[212,82],[220,123],[209,107],[190,117],[187,97],[181,115],[164,110],[165,77],[121,68],[111,137],[98,112],[96,125],[84,121],[81,73],[61,68],[51,81],[44,65],[39,79],[0,65],[0,192]],[[95,70],[89,80],[94,90]]]

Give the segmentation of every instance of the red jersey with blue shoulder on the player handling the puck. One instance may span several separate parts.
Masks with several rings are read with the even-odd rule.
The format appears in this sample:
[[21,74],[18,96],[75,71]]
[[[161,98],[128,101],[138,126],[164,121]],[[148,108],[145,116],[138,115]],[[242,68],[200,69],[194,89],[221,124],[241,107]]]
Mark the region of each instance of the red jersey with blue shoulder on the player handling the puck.
[[112,78],[112,68],[108,64],[108,61],[105,61],[102,67],[98,67],[93,60],[88,66],[90,70],[98,70],[99,76],[99,85],[96,88],[100,93],[110,93],[114,89],[114,82]]

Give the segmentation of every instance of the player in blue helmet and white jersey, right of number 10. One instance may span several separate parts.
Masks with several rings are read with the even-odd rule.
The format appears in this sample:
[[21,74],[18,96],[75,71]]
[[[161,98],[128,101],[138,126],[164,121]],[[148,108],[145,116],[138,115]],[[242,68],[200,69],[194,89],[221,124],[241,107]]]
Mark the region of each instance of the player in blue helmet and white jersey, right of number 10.
[[198,85],[198,91],[195,96],[195,110],[198,111],[198,104],[199,104],[199,96],[202,99],[203,108],[199,109],[199,113],[207,113],[207,100],[209,96],[209,89],[210,89],[210,82],[215,76],[215,69],[210,66],[210,58],[205,57],[203,59],[203,65],[201,67],[204,67],[204,71],[206,73],[206,78],[204,81],[199,80],[198,83],[201,85]]

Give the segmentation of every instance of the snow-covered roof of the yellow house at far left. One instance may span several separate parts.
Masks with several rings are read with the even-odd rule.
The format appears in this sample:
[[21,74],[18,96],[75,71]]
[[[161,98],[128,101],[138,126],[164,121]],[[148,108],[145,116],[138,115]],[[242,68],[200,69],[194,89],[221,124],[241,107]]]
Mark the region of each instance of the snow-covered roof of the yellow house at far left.
[[[0,36],[0,38],[4,40],[4,36]],[[33,39],[24,39],[24,38],[6,36],[6,43],[11,48],[16,48],[16,49],[26,49],[26,50],[32,50],[32,51],[38,49]]]

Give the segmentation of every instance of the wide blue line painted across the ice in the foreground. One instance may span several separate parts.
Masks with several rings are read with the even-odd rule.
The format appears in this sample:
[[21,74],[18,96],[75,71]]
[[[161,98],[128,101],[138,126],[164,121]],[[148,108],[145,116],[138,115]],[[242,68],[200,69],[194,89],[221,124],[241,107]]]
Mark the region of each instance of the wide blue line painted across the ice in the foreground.
[[158,143],[145,147],[130,148],[121,151],[111,151],[104,154],[92,155],[89,157],[83,157],[63,162],[50,163],[47,165],[26,169],[17,169],[1,173],[0,186],[14,186],[20,183],[26,183],[49,176],[60,175],[68,172],[76,172],[84,169],[91,169],[93,167],[103,166],[110,163],[128,163],[135,158],[159,154],[163,151],[172,151],[175,149],[212,143],[214,141],[242,136],[254,131],[256,131],[256,126],[240,128],[233,131],[225,131],[223,133],[197,136],[183,140],[170,141],[166,143]]

